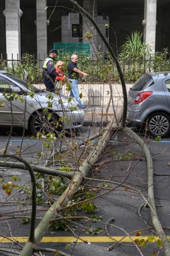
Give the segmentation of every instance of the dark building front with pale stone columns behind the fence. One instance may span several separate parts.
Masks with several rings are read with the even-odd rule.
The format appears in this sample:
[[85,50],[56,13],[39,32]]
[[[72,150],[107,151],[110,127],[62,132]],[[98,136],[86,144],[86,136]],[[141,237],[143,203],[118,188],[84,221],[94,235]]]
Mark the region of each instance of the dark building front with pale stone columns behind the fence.
[[[169,47],[169,0],[77,0],[94,17],[114,50],[132,31],[143,32],[153,51]],[[107,28],[105,24],[109,24]],[[105,47],[92,23],[68,0],[1,0],[0,59],[17,59],[23,53],[43,59],[54,42],[90,42],[90,53]]]

